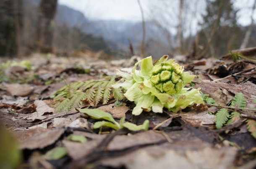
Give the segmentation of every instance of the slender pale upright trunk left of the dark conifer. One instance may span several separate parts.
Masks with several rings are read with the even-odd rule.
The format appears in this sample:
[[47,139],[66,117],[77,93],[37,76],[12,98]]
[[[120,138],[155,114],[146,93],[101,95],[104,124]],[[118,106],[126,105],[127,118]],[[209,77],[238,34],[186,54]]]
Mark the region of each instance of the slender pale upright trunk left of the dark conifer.
[[183,4],[184,1],[180,0],[180,10],[179,10],[179,24],[177,28],[177,35],[176,35],[176,46],[178,48],[177,52],[180,54],[181,53],[181,48],[182,48],[182,37],[183,37],[183,31],[182,31],[182,23],[183,23]]

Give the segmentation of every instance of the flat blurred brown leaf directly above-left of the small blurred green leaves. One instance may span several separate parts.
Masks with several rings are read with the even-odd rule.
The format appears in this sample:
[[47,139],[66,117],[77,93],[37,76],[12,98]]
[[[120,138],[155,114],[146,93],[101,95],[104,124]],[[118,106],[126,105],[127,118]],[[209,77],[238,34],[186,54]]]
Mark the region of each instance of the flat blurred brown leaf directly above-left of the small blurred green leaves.
[[57,139],[64,133],[65,129],[57,128],[43,133],[30,136],[21,142],[21,149],[42,149],[55,143]]

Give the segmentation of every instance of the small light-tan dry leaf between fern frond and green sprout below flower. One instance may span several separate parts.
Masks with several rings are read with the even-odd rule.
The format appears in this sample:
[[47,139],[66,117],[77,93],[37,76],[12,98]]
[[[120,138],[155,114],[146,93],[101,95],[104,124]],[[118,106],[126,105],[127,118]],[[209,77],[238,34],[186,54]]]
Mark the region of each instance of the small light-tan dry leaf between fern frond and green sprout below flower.
[[110,113],[115,119],[121,119],[125,117],[125,113],[129,110],[129,107],[125,106],[125,104],[119,107],[116,107],[114,104],[109,104],[107,106],[101,106],[98,109]]

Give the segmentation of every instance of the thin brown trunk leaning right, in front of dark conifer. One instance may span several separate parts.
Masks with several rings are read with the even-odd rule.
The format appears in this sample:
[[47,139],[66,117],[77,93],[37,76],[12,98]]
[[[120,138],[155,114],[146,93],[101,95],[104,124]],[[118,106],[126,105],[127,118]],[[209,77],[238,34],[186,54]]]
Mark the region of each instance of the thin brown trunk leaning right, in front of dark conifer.
[[223,4],[224,4],[224,0],[221,0],[220,2],[220,5],[219,5],[219,10],[218,10],[218,16],[217,16],[217,19],[214,23],[214,26],[212,28],[212,32],[211,32],[211,36],[210,36],[210,40],[206,46],[206,48],[204,49],[204,51],[199,55],[198,59],[201,59],[204,57],[204,55],[208,52],[210,46],[212,45],[212,40],[214,38],[214,35],[215,35],[215,32],[218,28],[218,25],[219,25],[219,20],[220,20],[220,17],[221,17],[221,14],[222,14],[222,8],[223,8]]

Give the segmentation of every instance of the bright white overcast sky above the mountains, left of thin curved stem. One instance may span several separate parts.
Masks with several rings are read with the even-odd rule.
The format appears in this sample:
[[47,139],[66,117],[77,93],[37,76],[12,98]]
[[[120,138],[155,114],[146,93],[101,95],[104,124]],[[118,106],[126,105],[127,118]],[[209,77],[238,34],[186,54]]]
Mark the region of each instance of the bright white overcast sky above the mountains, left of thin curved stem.
[[[141,0],[146,10],[145,2]],[[137,0],[59,0],[59,3],[83,12],[89,19],[141,20]]]

